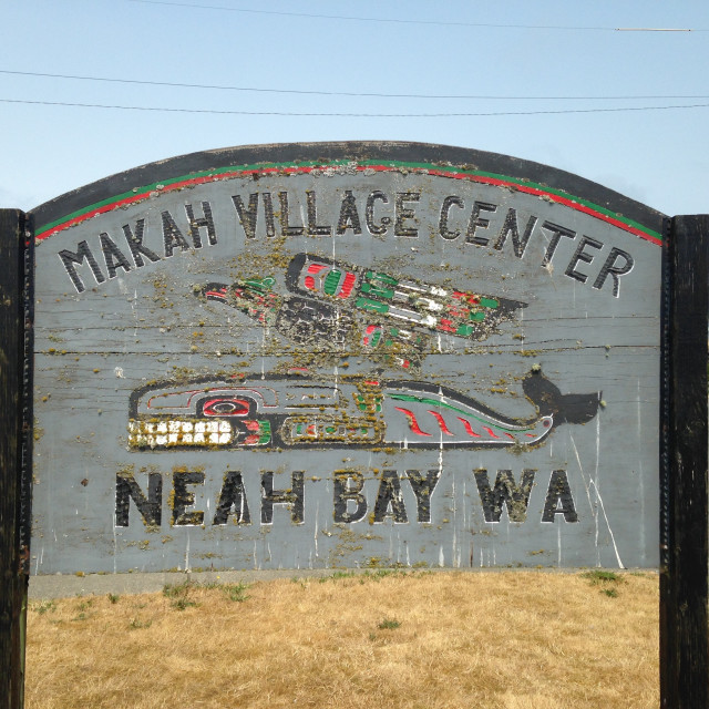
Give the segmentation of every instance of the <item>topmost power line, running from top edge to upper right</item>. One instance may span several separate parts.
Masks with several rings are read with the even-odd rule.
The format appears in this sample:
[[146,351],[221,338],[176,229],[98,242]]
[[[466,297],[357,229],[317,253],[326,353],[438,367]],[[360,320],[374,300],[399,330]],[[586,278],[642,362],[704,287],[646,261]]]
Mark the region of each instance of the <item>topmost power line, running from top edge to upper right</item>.
[[214,4],[195,4],[192,2],[169,2],[168,0],[129,0],[144,4],[165,4],[178,8],[197,8],[199,10],[224,10],[227,12],[243,12],[247,14],[270,14],[290,18],[309,18],[319,20],[347,20],[356,22],[391,22],[394,24],[434,24],[438,27],[486,27],[515,30],[590,30],[599,32],[706,32],[689,28],[619,28],[619,27],[574,27],[563,24],[494,24],[492,22],[443,22],[441,20],[402,20],[400,18],[361,18],[342,14],[315,14],[309,12],[282,12],[278,10],[245,10],[243,8],[225,8]]

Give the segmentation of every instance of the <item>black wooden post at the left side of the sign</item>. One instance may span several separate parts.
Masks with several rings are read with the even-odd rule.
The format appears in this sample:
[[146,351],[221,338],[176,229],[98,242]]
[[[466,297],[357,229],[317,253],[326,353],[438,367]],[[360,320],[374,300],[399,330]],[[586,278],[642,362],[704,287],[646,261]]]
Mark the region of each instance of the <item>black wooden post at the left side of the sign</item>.
[[0,709],[24,698],[31,532],[33,236],[0,209]]

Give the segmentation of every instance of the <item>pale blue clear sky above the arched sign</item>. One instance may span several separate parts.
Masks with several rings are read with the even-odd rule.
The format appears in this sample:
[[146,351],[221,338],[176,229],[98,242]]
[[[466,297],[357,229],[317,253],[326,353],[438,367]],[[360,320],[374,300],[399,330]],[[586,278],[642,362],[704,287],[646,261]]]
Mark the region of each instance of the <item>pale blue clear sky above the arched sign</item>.
[[[23,0],[3,10],[2,207],[30,209],[195,151],[401,140],[545,163],[670,215],[709,212],[705,1]],[[466,97],[424,97],[443,95]],[[665,107],[688,105],[698,107]],[[607,111],[650,106],[664,107]],[[577,112],[531,113],[545,111]],[[472,115],[490,113],[515,114]]]

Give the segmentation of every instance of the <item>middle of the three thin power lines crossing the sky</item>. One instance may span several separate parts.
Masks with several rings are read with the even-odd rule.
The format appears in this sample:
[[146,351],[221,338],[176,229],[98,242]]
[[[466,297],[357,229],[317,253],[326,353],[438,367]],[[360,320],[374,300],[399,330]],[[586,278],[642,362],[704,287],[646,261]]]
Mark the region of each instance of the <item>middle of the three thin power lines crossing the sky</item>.
[[225,86],[220,84],[189,84],[171,81],[150,81],[145,79],[111,79],[107,76],[84,76],[80,74],[50,74],[34,71],[12,71],[0,69],[0,74],[20,76],[43,76],[47,79],[75,79],[80,81],[103,81],[121,84],[142,84],[148,86],[171,86],[178,89],[209,89],[218,91],[254,91],[258,93],[291,93],[318,96],[350,96],[367,99],[435,99],[435,100],[485,100],[485,101],[648,101],[648,100],[689,100],[709,99],[707,94],[698,95],[638,95],[638,96],[493,96],[484,94],[420,94],[420,93],[367,93],[354,91],[315,91],[300,89],[263,89],[257,86]]

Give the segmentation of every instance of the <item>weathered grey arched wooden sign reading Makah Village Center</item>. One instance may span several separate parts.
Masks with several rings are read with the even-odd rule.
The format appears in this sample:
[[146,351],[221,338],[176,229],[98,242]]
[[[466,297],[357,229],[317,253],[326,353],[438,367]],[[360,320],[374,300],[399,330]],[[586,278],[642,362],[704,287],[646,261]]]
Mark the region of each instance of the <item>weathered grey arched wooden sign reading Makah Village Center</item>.
[[33,217],[33,573],[658,565],[659,213],[347,143]]

